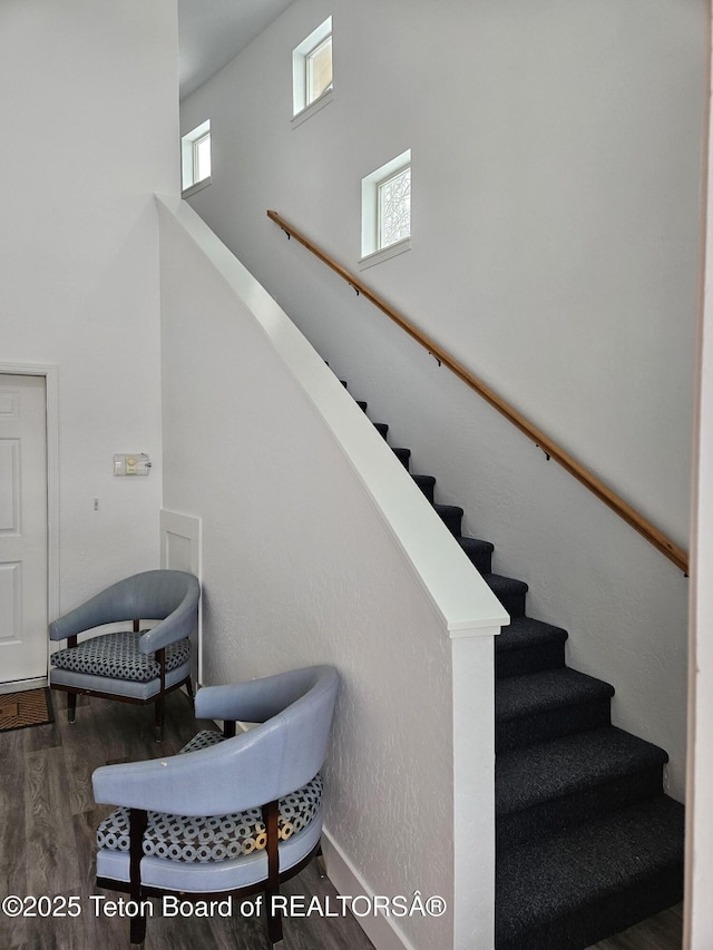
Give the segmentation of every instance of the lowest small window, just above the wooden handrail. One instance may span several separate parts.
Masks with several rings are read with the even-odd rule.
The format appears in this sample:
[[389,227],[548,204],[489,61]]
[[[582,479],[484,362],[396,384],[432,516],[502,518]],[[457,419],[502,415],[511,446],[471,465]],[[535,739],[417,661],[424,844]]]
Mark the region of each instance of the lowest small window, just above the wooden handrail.
[[362,178],[362,262],[370,258],[368,266],[408,251],[410,237],[411,149],[408,149]]

